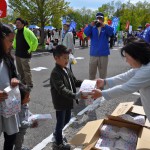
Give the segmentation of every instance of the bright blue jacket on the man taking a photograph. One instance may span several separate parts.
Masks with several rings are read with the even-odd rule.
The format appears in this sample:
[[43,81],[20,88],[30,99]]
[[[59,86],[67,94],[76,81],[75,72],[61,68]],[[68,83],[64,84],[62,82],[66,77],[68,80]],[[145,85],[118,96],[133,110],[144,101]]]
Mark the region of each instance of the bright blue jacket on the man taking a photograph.
[[113,27],[105,25],[101,28],[100,35],[96,26],[88,25],[84,29],[86,36],[91,39],[90,56],[108,56],[109,51],[109,37],[113,35]]

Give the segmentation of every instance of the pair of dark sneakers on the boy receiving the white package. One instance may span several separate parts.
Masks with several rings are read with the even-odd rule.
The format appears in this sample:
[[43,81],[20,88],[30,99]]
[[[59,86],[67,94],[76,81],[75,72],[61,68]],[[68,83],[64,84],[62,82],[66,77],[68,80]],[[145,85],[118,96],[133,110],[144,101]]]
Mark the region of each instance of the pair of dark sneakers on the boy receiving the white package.
[[71,146],[65,142],[59,145],[54,142],[52,148],[53,150],[71,150]]

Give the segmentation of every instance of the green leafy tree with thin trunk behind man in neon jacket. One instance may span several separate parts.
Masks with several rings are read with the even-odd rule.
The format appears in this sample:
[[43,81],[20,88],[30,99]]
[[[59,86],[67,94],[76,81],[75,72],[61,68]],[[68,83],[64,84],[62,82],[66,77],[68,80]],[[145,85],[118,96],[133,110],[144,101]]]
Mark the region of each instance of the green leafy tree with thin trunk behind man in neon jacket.
[[68,5],[69,3],[64,0],[9,0],[9,7],[18,12],[20,17],[30,24],[41,27],[42,44],[44,44],[44,26],[52,23],[55,17],[65,14]]

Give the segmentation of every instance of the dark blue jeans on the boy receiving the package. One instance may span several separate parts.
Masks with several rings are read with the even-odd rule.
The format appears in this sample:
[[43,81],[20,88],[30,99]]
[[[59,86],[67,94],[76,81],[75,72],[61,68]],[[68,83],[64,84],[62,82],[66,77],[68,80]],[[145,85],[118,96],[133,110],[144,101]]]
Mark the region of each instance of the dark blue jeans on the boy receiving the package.
[[58,145],[63,142],[62,129],[70,121],[70,118],[71,118],[71,109],[56,111],[57,123],[54,135],[56,139],[56,144]]

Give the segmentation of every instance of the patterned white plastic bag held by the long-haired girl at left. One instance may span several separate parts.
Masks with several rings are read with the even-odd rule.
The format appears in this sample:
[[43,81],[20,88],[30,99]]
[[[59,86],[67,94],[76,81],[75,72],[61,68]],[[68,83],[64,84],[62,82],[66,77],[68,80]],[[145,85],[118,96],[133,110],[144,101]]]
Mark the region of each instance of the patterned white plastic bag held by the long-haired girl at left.
[[4,91],[8,94],[8,98],[1,102],[0,115],[5,118],[11,117],[21,110],[21,95],[19,87],[7,87]]

